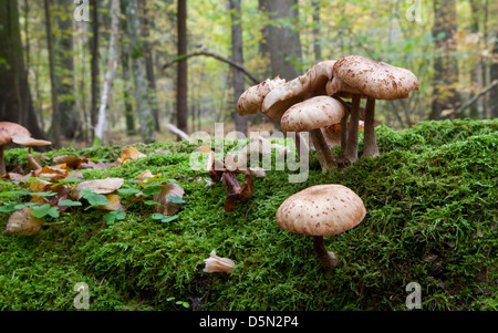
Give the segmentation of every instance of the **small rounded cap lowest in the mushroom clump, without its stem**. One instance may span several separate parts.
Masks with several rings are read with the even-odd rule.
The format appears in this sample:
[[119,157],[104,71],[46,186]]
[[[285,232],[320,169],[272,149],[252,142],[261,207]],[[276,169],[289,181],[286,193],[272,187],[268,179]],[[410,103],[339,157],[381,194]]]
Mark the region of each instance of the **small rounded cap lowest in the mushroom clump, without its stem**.
[[287,132],[304,132],[341,122],[345,108],[335,98],[315,96],[292,105],[282,116],[280,126]]

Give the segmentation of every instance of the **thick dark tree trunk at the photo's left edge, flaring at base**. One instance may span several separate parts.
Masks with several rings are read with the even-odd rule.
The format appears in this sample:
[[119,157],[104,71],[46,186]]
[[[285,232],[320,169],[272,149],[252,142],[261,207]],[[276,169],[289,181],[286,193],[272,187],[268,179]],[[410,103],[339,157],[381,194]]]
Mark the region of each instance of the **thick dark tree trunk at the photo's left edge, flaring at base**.
[[33,137],[45,138],[37,122],[24,66],[18,1],[0,1],[0,59],[6,61],[0,65],[0,121],[19,123]]

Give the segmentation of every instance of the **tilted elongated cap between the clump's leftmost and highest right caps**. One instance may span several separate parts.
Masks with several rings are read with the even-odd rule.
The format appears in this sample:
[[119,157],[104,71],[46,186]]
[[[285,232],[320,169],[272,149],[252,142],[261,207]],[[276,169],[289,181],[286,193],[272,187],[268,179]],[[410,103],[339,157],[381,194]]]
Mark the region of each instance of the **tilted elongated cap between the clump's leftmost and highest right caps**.
[[272,90],[263,100],[261,113],[280,122],[283,113],[293,104],[304,101],[307,96],[326,94],[325,86],[332,77],[334,63],[334,60],[319,62],[303,75]]

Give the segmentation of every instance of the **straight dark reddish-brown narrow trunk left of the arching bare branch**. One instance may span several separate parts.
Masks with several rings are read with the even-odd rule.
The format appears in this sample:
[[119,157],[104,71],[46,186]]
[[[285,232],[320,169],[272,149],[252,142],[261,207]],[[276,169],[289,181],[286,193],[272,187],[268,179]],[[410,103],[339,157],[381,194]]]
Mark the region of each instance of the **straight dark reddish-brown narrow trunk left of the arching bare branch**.
[[[178,33],[178,56],[187,54],[187,0],[178,0],[177,12],[177,33]],[[176,125],[187,132],[188,105],[187,105],[187,60],[178,61],[177,65],[177,87],[176,87]],[[181,137],[178,136],[178,141]]]

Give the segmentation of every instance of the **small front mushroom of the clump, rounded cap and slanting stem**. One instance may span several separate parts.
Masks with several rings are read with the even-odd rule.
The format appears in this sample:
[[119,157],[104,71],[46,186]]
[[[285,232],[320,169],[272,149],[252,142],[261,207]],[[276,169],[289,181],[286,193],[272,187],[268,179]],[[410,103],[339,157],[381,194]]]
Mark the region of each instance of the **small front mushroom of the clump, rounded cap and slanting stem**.
[[323,173],[336,168],[335,158],[326,144],[321,127],[338,124],[344,116],[344,106],[330,96],[315,96],[292,105],[282,116],[283,132],[309,131]]

